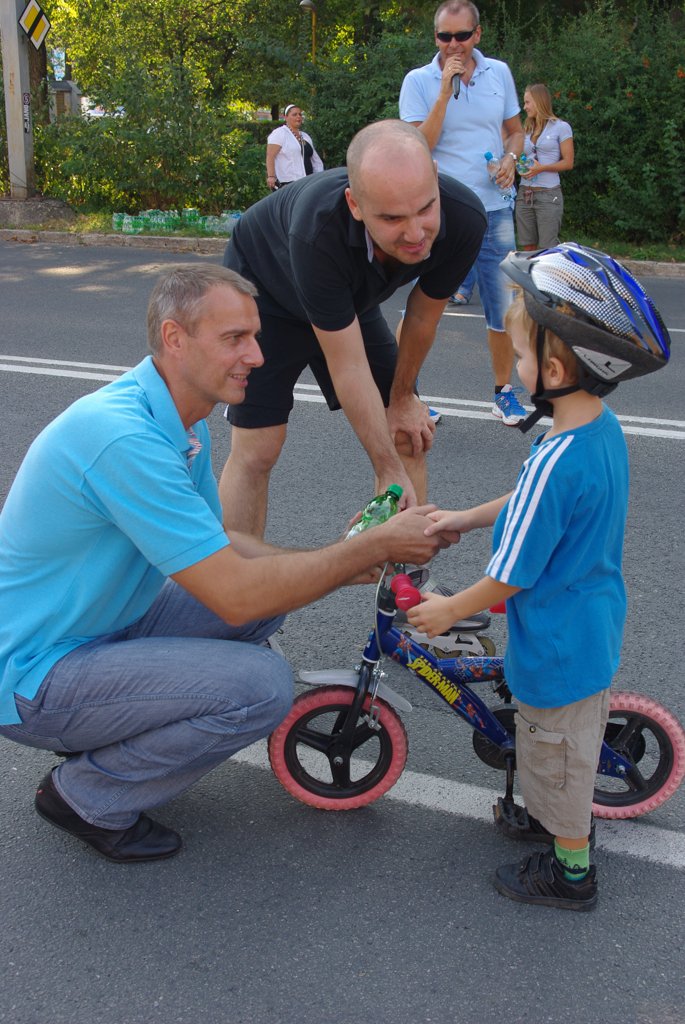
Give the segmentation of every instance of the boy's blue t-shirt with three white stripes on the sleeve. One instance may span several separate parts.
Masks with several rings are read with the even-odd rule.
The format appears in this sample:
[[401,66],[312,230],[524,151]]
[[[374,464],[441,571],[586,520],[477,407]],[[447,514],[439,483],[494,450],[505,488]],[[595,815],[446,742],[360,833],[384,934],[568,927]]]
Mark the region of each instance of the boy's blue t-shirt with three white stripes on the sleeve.
[[618,667],[628,451],[604,407],[583,427],[538,438],[493,535],[487,575],[507,601],[512,693],[560,708],[609,686]]

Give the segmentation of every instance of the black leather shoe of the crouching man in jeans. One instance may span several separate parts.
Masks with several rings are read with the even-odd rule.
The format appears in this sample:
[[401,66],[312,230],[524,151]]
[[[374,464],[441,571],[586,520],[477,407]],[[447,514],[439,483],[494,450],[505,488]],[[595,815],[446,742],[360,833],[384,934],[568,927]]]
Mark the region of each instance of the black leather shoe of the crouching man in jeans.
[[136,860],[162,860],[173,857],[181,848],[180,836],[141,814],[130,828],[100,828],[91,825],[72,810],[57,793],[49,772],[36,791],[35,807],[42,818],[70,836],[92,846],[108,860],[132,863]]

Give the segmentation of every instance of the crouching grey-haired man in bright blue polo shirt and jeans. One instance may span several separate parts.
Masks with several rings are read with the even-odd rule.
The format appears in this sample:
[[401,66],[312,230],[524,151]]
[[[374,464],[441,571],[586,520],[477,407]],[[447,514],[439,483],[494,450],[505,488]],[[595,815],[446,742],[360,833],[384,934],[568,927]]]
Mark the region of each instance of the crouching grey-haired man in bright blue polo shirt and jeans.
[[223,267],[166,269],[152,354],[43,430],[0,515],[0,734],[71,755],[36,810],[111,860],[177,853],[145,812],[285,717],[292,674],[264,645],[284,612],[438,547],[429,506],[316,551],[226,535],[205,417],[263,361],[254,296]]

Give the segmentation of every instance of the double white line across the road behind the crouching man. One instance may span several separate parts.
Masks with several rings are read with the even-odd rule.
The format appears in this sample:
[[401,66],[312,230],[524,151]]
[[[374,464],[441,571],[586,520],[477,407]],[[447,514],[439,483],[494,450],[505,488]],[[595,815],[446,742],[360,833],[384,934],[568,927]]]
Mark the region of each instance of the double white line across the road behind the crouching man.
[[[72,369],[74,368],[74,369]],[[77,369],[78,368],[78,369]],[[0,371],[13,374],[38,374],[48,377],[70,377],[75,380],[113,381],[130,370],[130,367],[110,366],[99,362],[74,362],[67,359],[41,359],[27,355],[0,355]],[[297,401],[324,402],[326,399],[316,384],[296,384]],[[491,402],[470,398],[446,398],[441,395],[422,395],[424,401],[443,416],[458,416],[460,419],[494,420]],[[531,406],[525,406],[528,412]],[[647,416],[618,416],[626,434],[640,434],[643,437],[663,437],[685,440],[685,420],[660,420]],[[550,420],[543,418],[543,426]]]

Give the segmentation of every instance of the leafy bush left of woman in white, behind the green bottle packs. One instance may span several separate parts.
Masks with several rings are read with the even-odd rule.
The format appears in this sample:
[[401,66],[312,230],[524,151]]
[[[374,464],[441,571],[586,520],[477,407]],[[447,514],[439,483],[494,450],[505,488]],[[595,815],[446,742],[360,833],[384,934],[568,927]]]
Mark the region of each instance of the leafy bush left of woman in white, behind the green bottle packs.
[[253,145],[236,119],[205,104],[186,79],[172,76],[162,86],[132,74],[121,115],[37,127],[37,176],[44,195],[83,210],[197,206],[218,213],[259,198],[245,179]]

